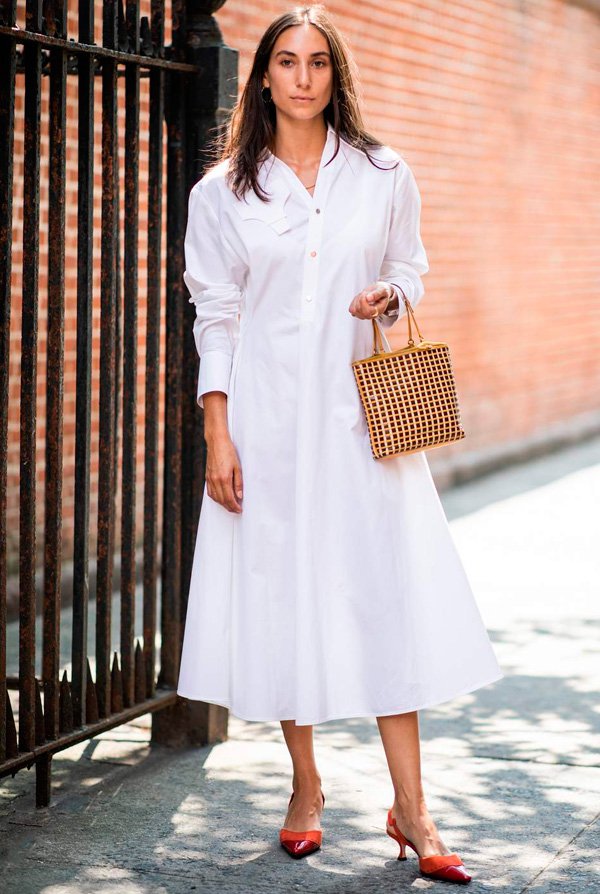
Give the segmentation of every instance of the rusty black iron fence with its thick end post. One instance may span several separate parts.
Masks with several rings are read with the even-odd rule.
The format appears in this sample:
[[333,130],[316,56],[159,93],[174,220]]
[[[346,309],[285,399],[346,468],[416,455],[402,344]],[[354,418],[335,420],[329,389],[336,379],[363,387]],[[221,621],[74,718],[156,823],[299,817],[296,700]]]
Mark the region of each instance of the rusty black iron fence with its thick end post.
[[[146,712],[153,741],[207,742],[226,734],[226,712],[176,696],[185,600],[205,456],[195,403],[197,361],[182,282],[189,187],[199,176],[208,130],[234,99],[237,53],[223,46],[212,13],[221,2],[24,4],[0,2],[0,776],[35,764],[37,804],[50,799],[55,752]],[[75,4],[71,4],[75,6]],[[102,40],[95,13],[102,10]],[[165,14],[170,44],[165,46]],[[76,16],[77,36],[68,33]],[[141,79],[147,102],[140,104]],[[41,102],[48,79],[47,140]],[[67,102],[76,79],[77,102]],[[101,83],[101,102],[95,85]],[[24,85],[22,112],[15,88]],[[146,87],[146,85],[144,85]],[[124,112],[119,97],[124,95]],[[101,195],[94,189],[94,121],[101,118]],[[124,143],[120,127],[124,117]],[[16,120],[17,118],[17,120]],[[15,128],[23,135],[22,288],[19,401],[18,674],[7,668],[7,456],[13,259]],[[61,673],[61,565],[65,337],[65,204],[69,127],[77,131],[77,313],[70,672]],[[141,136],[147,170],[140,172]],[[123,149],[124,146],[124,149]],[[120,148],[121,147],[121,148]],[[36,418],[40,294],[40,163],[48,160],[45,475],[37,490]],[[166,153],[164,157],[163,153]],[[121,185],[120,185],[121,184]],[[124,188],[123,188],[124,184]],[[139,288],[140,199],[145,215]],[[121,213],[120,205],[123,204]],[[99,206],[99,207],[97,207]],[[98,214],[100,211],[100,223]],[[99,387],[92,389],[94,233],[100,230]],[[121,256],[122,253],[122,256]],[[96,251],[97,254],[97,251]],[[145,307],[143,510],[137,519],[138,309]],[[161,326],[164,325],[164,359]],[[92,409],[98,413],[97,517],[90,518]],[[164,438],[159,444],[159,420]],[[160,485],[160,486],[159,486]],[[116,495],[120,494],[117,513]],[[162,502],[159,506],[159,494]],[[36,530],[43,516],[43,613],[36,643]],[[120,522],[114,648],[115,529]],[[159,524],[160,522],[160,524]],[[89,545],[96,543],[95,602]],[[140,537],[141,535],[141,537]],[[141,560],[138,558],[138,544]],[[160,562],[157,557],[160,555]],[[141,570],[138,568],[141,561]],[[140,571],[140,574],[138,574]],[[135,636],[141,578],[142,634]],[[160,594],[159,594],[160,590]],[[160,601],[159,601],[160,595]],[[159,609],[160,604],[160,609]],[[90,661],[88,609],[95,625]],[[36,652],[41,645],[41,675]],[[160,711],[158,709],[161,709]]]

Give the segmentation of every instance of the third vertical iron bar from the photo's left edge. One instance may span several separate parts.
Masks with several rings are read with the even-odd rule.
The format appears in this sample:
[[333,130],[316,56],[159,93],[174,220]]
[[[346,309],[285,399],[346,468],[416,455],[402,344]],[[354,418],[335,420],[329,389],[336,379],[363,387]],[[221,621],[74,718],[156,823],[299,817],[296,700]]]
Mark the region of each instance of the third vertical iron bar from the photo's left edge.
[[[64,37],[62,0],[45,5],[53,36]],[[50,190],[48,202],[48,339],[46,347],[46,505],[42,680],[46,738],[59,733],[62,560],[63,390],[65,328],[65,159],[67,57],[50,53]]]

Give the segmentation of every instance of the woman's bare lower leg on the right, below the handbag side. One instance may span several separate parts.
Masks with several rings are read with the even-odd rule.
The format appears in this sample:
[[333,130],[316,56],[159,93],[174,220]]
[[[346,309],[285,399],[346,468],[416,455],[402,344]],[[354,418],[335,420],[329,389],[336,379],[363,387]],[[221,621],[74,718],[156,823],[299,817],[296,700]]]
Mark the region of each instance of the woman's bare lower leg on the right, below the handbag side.
[[377,724],[394,786],[392,816],[400,831],[413,842],[421,857],[452,853],[440,838],[425,805],[418,712],[378,717]]

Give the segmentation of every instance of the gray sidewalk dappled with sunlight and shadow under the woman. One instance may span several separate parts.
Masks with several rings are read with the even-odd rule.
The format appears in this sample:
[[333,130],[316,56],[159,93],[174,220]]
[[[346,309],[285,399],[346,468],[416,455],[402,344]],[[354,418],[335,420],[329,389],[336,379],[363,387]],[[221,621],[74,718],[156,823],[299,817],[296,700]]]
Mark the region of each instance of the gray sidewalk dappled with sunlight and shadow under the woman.
[[[503,680],[420,712],[425,793],[471,892],[600,892],[600,439],[442,495]],[[460,646],[457,644],[457,647]],[[315,727],[323,847],[291,860],[278,723],[149,748],[148,718],[0,787],[4,894],[457,890],[396,860],[374,719]]]

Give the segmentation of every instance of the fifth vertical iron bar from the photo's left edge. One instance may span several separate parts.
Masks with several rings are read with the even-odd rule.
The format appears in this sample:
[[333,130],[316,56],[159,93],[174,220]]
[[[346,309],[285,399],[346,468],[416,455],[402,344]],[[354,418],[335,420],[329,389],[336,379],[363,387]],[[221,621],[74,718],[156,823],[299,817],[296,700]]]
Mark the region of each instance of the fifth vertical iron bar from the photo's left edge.
[[[117,46],[117,3],[103,4],[104,46]],[[98,573],[96,673],[98,713],[111,710],[110,647],[115,517],[115,364],[117,316],[117,66],[102,61],[102,250],[100,286],[100,421],[98,457]]]

